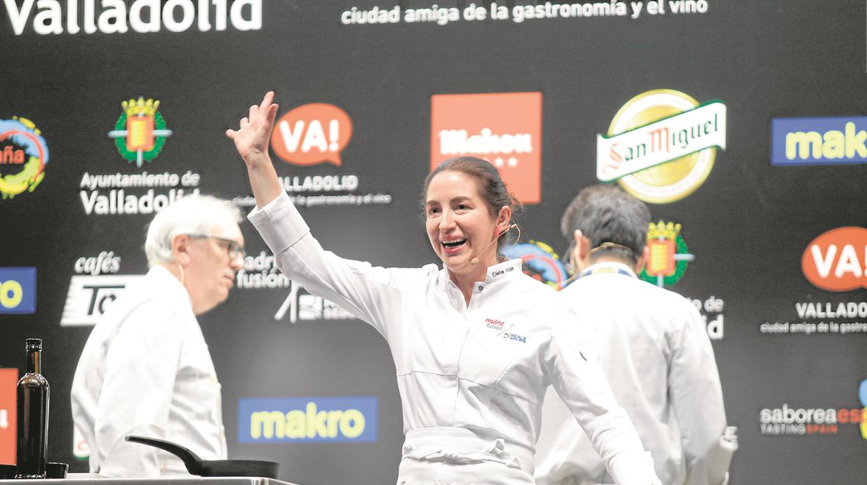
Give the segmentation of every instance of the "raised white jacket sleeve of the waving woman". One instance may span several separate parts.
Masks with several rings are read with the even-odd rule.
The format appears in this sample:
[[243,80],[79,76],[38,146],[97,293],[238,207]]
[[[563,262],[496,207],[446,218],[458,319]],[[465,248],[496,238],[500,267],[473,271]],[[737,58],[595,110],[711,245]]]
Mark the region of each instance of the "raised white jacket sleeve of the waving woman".
[[310,293],[340,305],[387,336],[384,312],[400,299],[400,287],[420,269],[382,268],[325,251],[297,208],[281,193],[247,218],[277,259],[277,267]]

